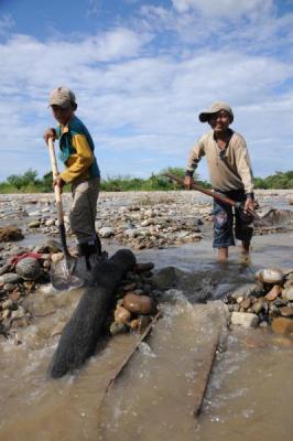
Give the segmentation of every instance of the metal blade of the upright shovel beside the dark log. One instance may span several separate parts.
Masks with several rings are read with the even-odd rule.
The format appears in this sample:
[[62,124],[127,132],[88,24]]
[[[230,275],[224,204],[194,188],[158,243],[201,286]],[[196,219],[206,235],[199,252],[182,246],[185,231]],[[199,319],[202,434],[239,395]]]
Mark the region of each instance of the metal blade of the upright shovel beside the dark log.
[[62,259],[51,266],[51,283],[57,291],[82,288],[84,280],[74,273],[75,259]]

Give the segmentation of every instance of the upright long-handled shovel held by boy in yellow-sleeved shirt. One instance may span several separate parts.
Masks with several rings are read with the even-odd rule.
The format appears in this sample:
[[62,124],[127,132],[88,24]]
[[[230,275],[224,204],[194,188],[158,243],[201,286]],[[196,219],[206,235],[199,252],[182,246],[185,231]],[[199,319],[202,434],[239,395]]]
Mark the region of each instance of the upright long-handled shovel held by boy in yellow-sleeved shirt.
[[[47,146],[48,146],[53,179],[55,179],[58,176],[58,169],[57,169],[54,142],[52,138],[48,138]],[[62,244],[64,259],[51,266],[51,282],[56,290],[65,291],[75,288],[80,288],[84,284],[84,281],[73,273],[76,260],[73,258],[73,256],[70,256],[67,248],[61,187],[54,185],[54,192],[55,192],[55,202],[57,209],[59,239]]]

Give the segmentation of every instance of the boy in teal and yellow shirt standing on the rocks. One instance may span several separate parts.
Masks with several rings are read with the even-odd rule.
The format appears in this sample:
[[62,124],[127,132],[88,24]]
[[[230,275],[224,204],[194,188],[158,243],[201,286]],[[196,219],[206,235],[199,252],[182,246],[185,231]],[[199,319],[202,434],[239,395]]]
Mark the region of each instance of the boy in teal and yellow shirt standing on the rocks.
[[90,269],[89,257],[101,251],[95,229],[100,184],[95,146],[85,125],[75,116],[77,103],[72,90],[67,87],[52,90],[48,105],[58,126],[47,129],[44,139],[46,142],[48,138],[59,140],[59,159],[65,164],[65,171],[54,181],[54,185],[63,187],[64,184],[72,184],[70,227],[77,237],[79,255],[86,258],[87,268]]

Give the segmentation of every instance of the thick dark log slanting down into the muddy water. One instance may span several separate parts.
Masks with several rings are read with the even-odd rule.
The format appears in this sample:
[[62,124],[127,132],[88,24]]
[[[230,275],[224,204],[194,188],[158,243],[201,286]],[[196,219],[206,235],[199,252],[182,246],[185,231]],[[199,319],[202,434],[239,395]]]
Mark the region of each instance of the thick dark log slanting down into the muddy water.
[[61,335],[48,369],[52,378],[73,373],[93,355],[115,289],[123,273],[134,265],[135,256],[128,249],[121,249],[93,269],[93,281]]

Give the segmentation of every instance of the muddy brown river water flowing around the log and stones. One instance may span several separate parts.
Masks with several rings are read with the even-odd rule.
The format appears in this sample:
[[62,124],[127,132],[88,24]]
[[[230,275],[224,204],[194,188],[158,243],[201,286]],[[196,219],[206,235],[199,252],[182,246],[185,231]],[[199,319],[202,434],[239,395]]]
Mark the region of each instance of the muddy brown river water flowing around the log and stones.
[[[224,292],[227,286],[253,280],[261,266],[292,268],[292,238],[290,233],[256,237],[249,265],[235,248],[230,262],[219,267],[210,240],[141,251],[139,259],[197,275],[191,276],[189,283],[186,275],[183,278],[182,289],[193,303],[194,290]],[[202,416],[194,419],[200,368],[194,361],[198,347],[204,347],[200,336],[209,342],[216,316],[206,315],[205,306],[195,311],[180,293],[164,304],[158,330],[140,346],[104,401],[105,387],[135,336],[105,342],[78,375],[48,380],[46,370],[58,340],[54,333],[68,320],[80,295],[82,290],[56,294],[43,289],[30,300],[35,323],[1,343],[1,441],[292,439],[293,348],[290,340],[262,330],[229,335]]]

